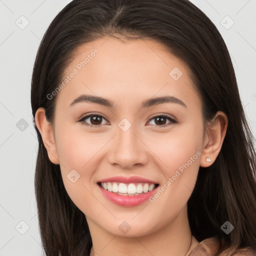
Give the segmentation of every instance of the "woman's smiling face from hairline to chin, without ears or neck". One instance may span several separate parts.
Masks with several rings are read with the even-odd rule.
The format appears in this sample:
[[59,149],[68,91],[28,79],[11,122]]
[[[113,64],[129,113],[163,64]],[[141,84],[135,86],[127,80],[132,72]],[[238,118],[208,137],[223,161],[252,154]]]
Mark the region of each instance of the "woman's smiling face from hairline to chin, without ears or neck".
[[[72,57],[52,93],[56,158],[72,201],[90,226],[121,236],[186,218],[204,146],[201,101],[187,66],[141,39],[97,39]],[[107,191],[99,184],[106,179],[105,188],[138,195]],[[146,183],[156,187],[141,193]]]

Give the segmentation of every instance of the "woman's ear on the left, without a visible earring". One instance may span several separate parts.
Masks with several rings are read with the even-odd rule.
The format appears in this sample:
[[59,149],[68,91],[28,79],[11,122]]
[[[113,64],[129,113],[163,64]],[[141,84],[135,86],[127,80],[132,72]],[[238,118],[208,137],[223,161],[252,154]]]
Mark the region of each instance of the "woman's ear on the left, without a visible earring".
[[53,127],[46,120],[45,110],[43,107],[39,107],[36,110],[34,121],[41,134],[42,141],[47,150],[50,161],[52,163],[59,164],[57,148],[53,136]]

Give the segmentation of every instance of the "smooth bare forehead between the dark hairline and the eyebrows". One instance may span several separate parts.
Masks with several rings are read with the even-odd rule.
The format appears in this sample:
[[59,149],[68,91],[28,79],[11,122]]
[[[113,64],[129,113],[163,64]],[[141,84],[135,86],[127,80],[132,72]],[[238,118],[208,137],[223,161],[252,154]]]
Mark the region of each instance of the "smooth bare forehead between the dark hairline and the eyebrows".
[[85,43],[72,54],[64,79],[67,83],[58,94],[69,103],[82,92],[111,98],[115,106],[116,100],[139,100],[138,95],[173,94],[199,100],[187,65],[163,44],[149,39],[103,37]]

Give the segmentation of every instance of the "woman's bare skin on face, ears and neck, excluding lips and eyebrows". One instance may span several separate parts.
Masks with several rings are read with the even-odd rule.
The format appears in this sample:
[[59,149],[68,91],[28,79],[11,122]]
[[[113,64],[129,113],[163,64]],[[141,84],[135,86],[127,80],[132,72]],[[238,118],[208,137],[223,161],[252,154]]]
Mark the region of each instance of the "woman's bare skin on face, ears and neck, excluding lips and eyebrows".
[[[199,166],[211,165],[221,149],[227,117],[218,111],[204,136],[201,100],[188,67],[152,40],[104,37],[84,44],[63,77],[95,48],[98,53],[57,93],[54,123],[46,121],[43,108],[36,111],[48,157],[60,164],[66,191],[85,214],[95,254],[188,255],[199,242],[193,237],[190,245],[187,200]],[[174,67],[182,71],[176,80],[169,74]],[[81,94],[107,98],[114,107],[91,102],[69,106]],[[165,102],[141,108],[144,100],[166,95],[186,106]],[[78,122],[90,113],[102,115],[101,122],[90,117],[83,123],[92,127]],[[161,114],[177,122],[157,122]],[[123,118],[131,124],[126,131],[118,126]],[[111,176],[138,175],[154,180],[160,189],[190,157],[191,164],[154,201],[120,206],[104,197],[96,184]],[[72,169],[80,175],[74,183],[67,178]],[[123,221],[131,227],[125,234],[118,228]]]

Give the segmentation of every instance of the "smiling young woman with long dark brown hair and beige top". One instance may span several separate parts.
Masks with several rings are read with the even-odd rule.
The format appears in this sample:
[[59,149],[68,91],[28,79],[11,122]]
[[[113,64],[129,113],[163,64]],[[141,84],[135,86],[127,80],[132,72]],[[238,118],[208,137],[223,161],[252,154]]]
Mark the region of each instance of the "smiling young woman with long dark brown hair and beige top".
[[35,59],[46,255],[255,255],[256,155],[226,45],[187,0],[73,0]]

